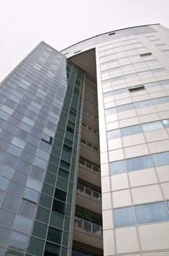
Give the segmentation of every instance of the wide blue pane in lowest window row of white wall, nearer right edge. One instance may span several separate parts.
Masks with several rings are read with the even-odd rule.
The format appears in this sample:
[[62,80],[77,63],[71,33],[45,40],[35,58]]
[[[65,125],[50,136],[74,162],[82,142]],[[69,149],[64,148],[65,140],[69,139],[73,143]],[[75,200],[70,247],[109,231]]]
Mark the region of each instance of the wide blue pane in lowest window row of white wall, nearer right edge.
[[162,222],[169,219],[164,202],[135,206],[135,217],[138,224]]

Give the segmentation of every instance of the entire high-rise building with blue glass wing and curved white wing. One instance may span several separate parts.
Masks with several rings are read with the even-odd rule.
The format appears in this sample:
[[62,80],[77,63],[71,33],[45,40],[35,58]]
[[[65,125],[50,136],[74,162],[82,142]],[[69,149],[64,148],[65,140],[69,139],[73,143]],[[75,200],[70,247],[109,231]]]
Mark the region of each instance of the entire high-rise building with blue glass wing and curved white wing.
[[40,42],[0,94],[0,255],[169,255],[168,29]]

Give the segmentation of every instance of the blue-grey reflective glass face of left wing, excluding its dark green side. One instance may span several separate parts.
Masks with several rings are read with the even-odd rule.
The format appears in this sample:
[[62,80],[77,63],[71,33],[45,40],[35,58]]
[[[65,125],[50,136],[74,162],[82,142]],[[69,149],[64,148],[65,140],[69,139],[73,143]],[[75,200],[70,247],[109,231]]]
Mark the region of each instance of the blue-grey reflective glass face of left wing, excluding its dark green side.
[[66,58],[44,42],[1,83],[1,255],[43,253],[45,225],[34,248],[30,235],[66,90]]

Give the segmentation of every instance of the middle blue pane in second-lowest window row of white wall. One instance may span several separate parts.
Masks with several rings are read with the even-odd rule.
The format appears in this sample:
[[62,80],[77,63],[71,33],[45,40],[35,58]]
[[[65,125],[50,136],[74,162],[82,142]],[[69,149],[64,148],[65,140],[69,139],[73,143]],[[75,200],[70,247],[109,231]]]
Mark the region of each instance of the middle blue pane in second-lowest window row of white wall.
[[152,160],[150,156],[135,157],[126,160],[127,170],[141,170],[152,167]]

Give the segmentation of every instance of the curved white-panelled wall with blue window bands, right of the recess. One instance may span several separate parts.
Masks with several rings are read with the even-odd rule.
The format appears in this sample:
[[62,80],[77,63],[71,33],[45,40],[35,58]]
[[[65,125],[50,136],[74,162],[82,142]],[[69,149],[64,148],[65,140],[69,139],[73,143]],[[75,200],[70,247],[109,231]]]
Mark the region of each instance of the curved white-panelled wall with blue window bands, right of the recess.
[[106,256],[169,253],[169,31],[152,27],[96,47]]

